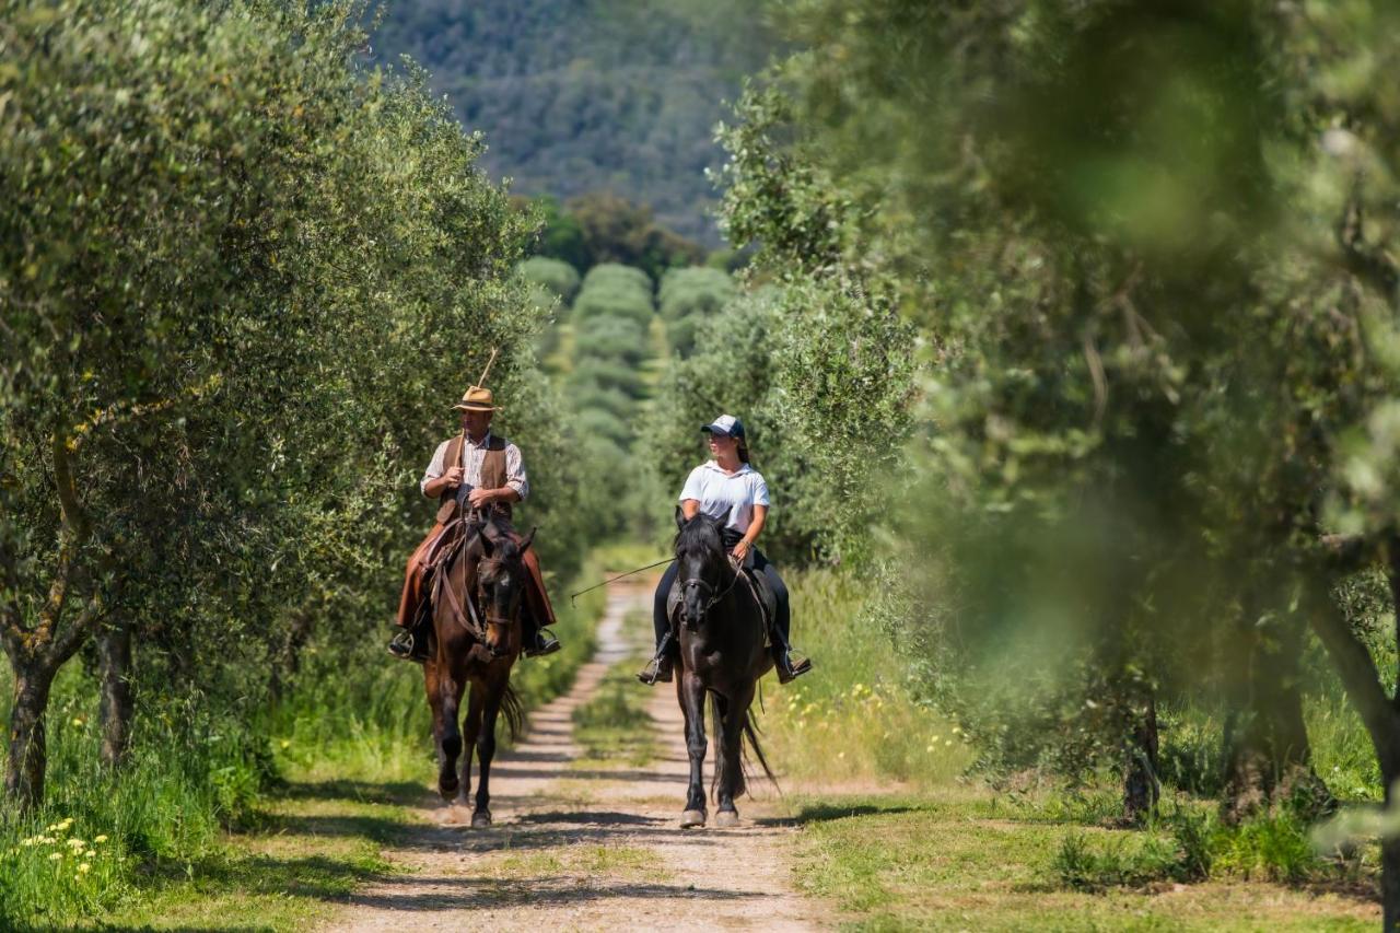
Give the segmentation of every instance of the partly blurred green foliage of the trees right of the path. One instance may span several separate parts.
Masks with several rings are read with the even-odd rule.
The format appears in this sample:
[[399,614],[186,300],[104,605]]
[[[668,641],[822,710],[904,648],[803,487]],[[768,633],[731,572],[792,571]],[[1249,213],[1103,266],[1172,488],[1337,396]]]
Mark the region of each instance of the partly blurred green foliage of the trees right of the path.
[[[900,637],[945,706],[1008,737],[1008,765],[1123,756],[1154,693],[1238,695],[1231,661],[1256,650],[1292,679],[1308,622],[1390,723],[1375,740],[1394,734],[1348,660],[1393,616],[1329,598],[1396,527],[1400,111],[1357,77],[1393,60],[1375,38],[1393,18],[780,11],[801,50],[721,130],[727,230],[804,324],[778,343],[805,377],[780,354],[794,433],[914,437],[917,506],[896,524],[921,579]],[[918,339],[871,332],[881,308]],[[853,347],[928,363],[918,408]],[[1319,546],[1333,532],[1358,535],[1350,562]]]

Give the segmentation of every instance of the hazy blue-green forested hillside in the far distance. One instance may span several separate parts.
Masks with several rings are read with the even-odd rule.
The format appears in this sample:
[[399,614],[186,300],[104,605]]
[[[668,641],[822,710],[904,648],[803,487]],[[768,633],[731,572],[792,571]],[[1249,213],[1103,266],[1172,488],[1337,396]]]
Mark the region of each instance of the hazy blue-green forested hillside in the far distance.
[[410,55],[518,193],[612,191],[717,245],[713,141],[724,101],[767,56],[738,0],[396,0],[374,49]]

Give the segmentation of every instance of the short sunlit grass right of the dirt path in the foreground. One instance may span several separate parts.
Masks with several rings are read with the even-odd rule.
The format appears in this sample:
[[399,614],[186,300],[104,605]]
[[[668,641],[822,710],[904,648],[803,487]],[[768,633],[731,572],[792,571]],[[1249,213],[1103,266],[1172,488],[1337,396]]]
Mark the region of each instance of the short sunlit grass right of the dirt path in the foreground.
[[1176,859],[1147,832],[1019,815],[976,787],[914,796],[795,797],[801,888],[833,904],[846,929],[1371,929],[1379,908],[1355,892],[1263,881],[1065,890],[1065,839]]

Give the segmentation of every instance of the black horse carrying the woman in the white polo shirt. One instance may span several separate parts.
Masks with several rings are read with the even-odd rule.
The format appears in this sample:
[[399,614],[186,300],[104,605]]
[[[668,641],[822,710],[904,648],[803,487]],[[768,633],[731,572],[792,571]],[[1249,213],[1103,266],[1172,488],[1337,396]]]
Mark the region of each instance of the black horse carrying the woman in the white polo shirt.
[[739,811],[734,799],[746,786],[741,748],[745,737],[763,772],[773,778],[749,720],[753,692],[759,678],[773,667],[773,658],[764,646],[763,609],[725,552],[720,535],[722,523],[706,516],[685,520],[678,513],[676,524],[680,527],[676,565],[682,591],[676,698],[685,712],[686,748],[690,752],[690,786],[680,825],[690,828],[706,822],[704,699],[708,693],[714,700],[714,731],[720,745],[715,825],[735,827]]

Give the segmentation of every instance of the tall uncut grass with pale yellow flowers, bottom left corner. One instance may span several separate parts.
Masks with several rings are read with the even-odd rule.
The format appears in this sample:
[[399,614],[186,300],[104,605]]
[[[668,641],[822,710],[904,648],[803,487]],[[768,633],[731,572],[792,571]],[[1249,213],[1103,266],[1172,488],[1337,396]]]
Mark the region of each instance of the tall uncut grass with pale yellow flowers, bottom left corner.
[[0,811],[7,929],[66,925],[130,899],[150,871],[214,852],[272,782],[266,738],[234,710],[214,717],[193,700],[153,703],[112,773],[94,755],[95,710],[92,685],[66,671],[49,710],[50,793],[28,814]]

